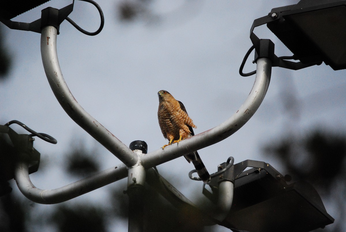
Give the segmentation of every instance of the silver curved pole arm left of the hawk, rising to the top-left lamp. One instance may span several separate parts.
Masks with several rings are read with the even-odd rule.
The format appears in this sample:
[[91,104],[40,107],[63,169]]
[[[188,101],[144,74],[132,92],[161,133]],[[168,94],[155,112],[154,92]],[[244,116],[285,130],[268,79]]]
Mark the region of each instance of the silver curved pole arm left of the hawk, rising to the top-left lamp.
[[134,165],[138,161],[137,155],[86,112],[73,97],[60,69],[56,52],[56,36],[57,30],[55,27],[46,26],[42,28],[42,62],[56,99],[73,121],[117,156],[121,162],[127,166]]

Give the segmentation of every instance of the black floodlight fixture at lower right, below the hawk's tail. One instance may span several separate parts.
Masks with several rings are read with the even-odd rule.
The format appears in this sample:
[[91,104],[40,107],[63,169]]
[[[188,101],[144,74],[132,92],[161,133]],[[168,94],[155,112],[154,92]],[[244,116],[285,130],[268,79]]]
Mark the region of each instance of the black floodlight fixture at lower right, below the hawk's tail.
[[268,163],[246,160],[234,164],[208,183],[212,194],[205,188],[203,194],[216,201],[217,182],[224,180],[234,181],[234,195],[230,211],[219,225],[232,231],[308,232],[334,222],[310,184],[289,184],[290,176],[283,176]]

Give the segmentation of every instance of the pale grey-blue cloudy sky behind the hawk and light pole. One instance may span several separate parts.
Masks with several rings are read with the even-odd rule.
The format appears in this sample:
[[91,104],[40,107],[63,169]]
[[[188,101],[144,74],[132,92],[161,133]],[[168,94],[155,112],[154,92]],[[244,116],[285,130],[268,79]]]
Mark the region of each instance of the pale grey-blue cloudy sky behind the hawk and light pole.
[[[40,17],[41,9],[61,8],[71,2],[51,1],[15,20],[32,22]],[[184,103],[197,125],[195,134],[225,121],[242,105],[254,82],[255,76],[238,74],[252,45],[249,31],[253,20],[267,15],[272,8],[298,1],[153,1],[151,14],[134,23],[119,22],[118,1],[97,2],[105,18],[99,35],[86,36],[66,21],[60,26],[57,51],[64,78],[81,106],[112,134],[126,145],[144,140],[151,152],[167,143],[157,121],[157,91],[165,89]],[[97,10],[85,2],[75,1],[69,17],[88,31],[99,26]],[[48,175],[43,176],[40,170],[30,175],[36,187],[54,189],[76,181],[64,175],[61,166],[65,162],[63,154],[81,142],[95,149],[104,169],[119,164],[58,104],[42,66],[40,34],[7,27],[4,31],[14,63],[10,78],[0,85],[0,123],[16,119],[58,141],[56,145],[40,139],[34,143],[44,161],[40,169],[49,168]],[[266,26],[256,28],[255,33],[275,43],[276,55],[291,55]],[[256,68],[252,60],[253,53],[245,72]],[[298,71],[274,67],[267,95],[253,118],[228,139],[199,151],[209,172],[215,172],[218,164],[233,156],[235,163],[265,161],[288,174],[280,163],[262,156],[260,148],[288,132],[300,135],[313,127],[344,132],[345,74],[345,70],[334,71],[324,63]],[[285,106],[287,103],[290,108]],[[19,126],[11,128],[26,133]],[[193,201],[202,195],[202,184],[188,178],[192,169],[183,157],[158,166],[164,177],[174,177],[175,187]],[[126,180],[72,199],[71,204],[83,199],[104,203],[107,188],[125,190]],[[322,200],[337,220],[333,203]],[[115,224],[127,231],[127,222]],[[212,229],[228,231],[221,226]]]

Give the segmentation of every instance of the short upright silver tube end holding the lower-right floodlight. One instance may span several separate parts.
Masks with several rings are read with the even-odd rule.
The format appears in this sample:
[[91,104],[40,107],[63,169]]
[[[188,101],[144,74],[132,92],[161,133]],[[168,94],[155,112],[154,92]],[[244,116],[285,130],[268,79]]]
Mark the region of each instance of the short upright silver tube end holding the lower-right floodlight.
[[219,184],[219,199],[217,202],[217,212],[214,218],[222,222],[231,209],[233,202],[233,183],[231,181],[222,181]]

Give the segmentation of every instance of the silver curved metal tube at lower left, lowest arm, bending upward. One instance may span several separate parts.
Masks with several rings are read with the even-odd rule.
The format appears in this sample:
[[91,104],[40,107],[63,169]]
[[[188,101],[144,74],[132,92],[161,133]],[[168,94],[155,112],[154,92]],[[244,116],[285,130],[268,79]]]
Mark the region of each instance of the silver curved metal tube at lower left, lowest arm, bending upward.
[[42,190],[36,188],[31,183],[27,162],[19,161],[15,167],[15,179],[19,190],[29,200],[40,204],[61,203],[125,177],[127,177],[127,167],[124,164],[120,164],[83,180],[67,184],[64,187],[53,190]]

